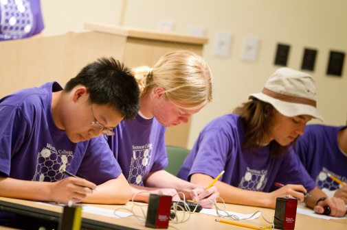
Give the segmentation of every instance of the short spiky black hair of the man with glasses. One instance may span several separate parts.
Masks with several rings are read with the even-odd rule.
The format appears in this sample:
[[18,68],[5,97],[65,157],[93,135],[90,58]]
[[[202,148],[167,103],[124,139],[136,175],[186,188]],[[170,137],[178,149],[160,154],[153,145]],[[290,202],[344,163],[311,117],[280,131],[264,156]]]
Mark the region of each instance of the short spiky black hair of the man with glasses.
[[65,92],[85,86],[90,103],[114,107],[125,118],[134,118],[139,111],[139,86],[128,68],[113,57],[101,57],[82,68],[65,85]]

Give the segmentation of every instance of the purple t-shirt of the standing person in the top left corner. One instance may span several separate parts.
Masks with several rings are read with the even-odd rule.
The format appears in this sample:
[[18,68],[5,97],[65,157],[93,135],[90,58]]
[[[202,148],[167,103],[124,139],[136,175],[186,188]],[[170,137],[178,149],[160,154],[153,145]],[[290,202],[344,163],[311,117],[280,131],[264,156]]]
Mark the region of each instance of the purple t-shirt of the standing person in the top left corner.
[[44,27],[40,0],[0,1],[0,40],[29,38]]

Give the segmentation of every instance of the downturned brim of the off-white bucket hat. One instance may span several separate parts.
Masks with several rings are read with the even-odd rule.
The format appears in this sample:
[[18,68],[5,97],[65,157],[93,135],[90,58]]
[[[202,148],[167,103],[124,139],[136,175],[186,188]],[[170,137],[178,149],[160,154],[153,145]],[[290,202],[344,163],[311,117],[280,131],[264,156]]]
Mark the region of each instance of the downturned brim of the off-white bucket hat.
[[317,108],[311,105],[281,101],[274,99],[273,97],[269,97],[267,94],[263,94],[262,92],[249,94],[249,99],[251,99],[251,97],[255,97],[260,101],[270,103],[284,116],[310,115],[313,118],[321,120],[322,122],[324,120],[323,116],[317,111]]

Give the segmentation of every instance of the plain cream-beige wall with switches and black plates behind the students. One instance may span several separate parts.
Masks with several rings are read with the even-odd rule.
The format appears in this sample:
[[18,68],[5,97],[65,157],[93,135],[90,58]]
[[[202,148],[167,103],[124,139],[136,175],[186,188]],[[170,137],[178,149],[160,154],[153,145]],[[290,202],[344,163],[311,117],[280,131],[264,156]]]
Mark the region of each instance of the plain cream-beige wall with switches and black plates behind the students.
[[[44,35],[83,31],[85,21],[156,29],[159,20],[173,21],[175,31],[188,34],[203,27],[210,39],[203,57],[214,73],[214,101],[192,118],[188,147],[208,121],[259,92],[278,68],[273,65],[276,44],[291,45],[288,66],[300,70],[304,47],[317,49],[315,71],[318,109],[326,124],[342,125],[347,115],[347,70],[342,77],[326,75],[328,52],[347,52],[347,1],[345,0],[43,0]],[[213,53],[216,34],[233,34],[230,56]],[[240,55],[245,36],[260,38],[256,62]],[[346,65],[346,61],[345,61]],[[317,123],[313,120],[313,123]]]

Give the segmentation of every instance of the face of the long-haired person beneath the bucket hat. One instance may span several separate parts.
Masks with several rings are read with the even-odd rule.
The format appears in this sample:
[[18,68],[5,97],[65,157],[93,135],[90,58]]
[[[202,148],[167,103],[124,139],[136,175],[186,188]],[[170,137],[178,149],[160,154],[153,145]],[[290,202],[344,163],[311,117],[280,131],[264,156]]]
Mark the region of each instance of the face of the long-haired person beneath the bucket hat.
[[312,117],[309,115],[284,116],[274,110],[269,130],[270,138],[276,140],[282,146],[287,146],[296,140],[298,136],[304,134],[305,125],[311,119]]

